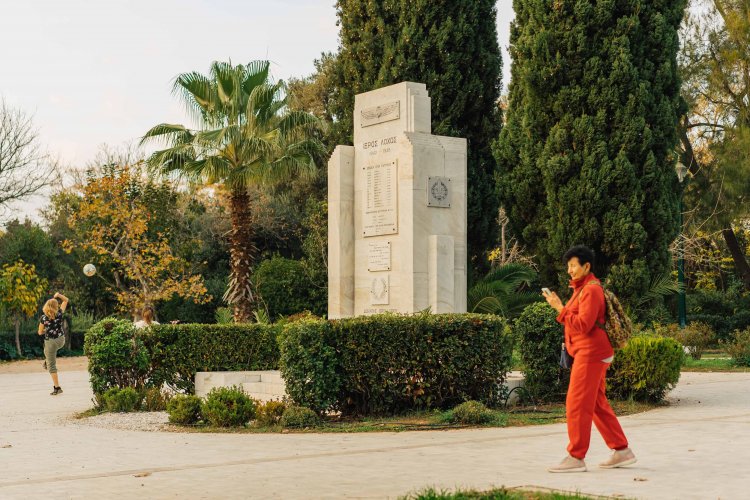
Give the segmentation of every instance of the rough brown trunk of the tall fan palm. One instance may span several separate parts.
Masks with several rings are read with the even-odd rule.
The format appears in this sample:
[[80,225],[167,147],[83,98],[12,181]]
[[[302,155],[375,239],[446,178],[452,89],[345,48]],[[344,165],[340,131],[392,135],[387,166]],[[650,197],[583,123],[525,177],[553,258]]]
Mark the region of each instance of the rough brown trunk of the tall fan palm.
[[235,323],[249,323],[253,317],[252,263],[253,246],[250,196],[244,189],[234,189],[230,196],[232,231],[229,253],[231,275],[224,300],[234,306]]

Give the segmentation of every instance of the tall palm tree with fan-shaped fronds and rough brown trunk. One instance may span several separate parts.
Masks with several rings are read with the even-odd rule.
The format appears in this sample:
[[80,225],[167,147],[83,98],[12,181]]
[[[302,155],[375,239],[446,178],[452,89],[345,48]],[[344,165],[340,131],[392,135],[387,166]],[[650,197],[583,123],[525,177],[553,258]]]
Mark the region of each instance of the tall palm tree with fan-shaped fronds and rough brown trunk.
[[319,120],[287,107],[284,82],[269,78],[269,62],[232,66],[214,62],[208,75],[183,73],[173,93],[198,124],[156,125],[141,139],[166,143],[148,163],[164,175],[222,184],[229,193],[230,282],[224,300],[236,322],[252,319],[254,257],[250,187],[312,177],[324,147],[316,139]]

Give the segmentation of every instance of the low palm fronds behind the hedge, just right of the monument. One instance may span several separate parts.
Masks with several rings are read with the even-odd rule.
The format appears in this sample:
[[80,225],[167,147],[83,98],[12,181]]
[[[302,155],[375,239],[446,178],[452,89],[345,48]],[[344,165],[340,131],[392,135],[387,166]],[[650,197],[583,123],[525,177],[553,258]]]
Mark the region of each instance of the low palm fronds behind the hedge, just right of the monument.
[[536,271],[523,264],[493,269],[469,290],[469,312],[515,318],[527,305],[541,300],[539,293],[528,289],[536,277]]

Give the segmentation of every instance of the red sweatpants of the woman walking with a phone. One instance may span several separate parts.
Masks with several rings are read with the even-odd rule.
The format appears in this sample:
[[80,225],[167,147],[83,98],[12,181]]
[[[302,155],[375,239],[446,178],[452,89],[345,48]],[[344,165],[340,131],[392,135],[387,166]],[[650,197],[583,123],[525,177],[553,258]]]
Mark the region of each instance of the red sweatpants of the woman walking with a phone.
[[609,363],[576,360],[570,373],[570,386],[565,400],[568,420],[568,453],[583,460],[591,442],[591,421],[607,446],[613,450],[628,447],[620,422],[607,401],[606,374]]

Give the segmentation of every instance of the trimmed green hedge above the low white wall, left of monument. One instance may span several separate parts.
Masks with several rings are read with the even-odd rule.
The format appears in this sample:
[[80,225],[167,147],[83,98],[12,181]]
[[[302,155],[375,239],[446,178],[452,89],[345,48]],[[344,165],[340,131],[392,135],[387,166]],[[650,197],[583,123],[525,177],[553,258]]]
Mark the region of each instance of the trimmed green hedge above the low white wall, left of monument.
[[154,325],[143,333],[152,384],[192,393],[197,372],[276,370],[279,330],[259,324]]

